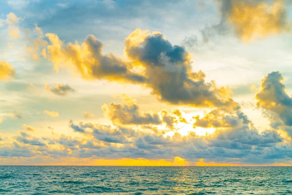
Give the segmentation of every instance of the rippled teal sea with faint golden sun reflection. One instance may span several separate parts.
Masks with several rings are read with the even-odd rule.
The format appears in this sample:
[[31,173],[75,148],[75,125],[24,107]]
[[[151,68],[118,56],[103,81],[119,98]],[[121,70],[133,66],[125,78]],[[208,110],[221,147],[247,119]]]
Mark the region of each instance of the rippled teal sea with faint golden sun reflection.
[[292,194],[292,167],[0,166],[1,195]]

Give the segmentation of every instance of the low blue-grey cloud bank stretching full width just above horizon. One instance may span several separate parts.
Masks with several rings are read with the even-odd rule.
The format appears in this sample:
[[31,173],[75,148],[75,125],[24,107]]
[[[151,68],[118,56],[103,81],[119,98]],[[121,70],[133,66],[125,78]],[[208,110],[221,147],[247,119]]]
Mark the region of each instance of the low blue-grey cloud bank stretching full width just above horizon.
[[186,161],[216,161],[239,164],[274,163],[275,159],[287,162],[292,157],[288,142],[274,130],[258,133],[248,125],[217,129],[214,135],[197,136],[194,132],[182,136],[162,136],[143,130],[121,128],[97,123],[75,124],[69,127],[81,137],[65,135],[55,138],[37,138],[20,132],[12,137],[11,144],[0,145],[0,156],[35,156],[51,160],[74,157],[94,159],[171,159],[176,156]]

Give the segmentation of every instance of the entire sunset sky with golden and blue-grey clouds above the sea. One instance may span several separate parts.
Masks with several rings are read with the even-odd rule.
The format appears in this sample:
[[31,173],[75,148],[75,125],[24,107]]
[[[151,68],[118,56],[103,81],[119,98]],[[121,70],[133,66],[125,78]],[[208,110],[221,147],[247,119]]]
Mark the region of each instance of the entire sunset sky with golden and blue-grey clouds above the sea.
[[292,165],[289,0],[0,5],[0,165]]

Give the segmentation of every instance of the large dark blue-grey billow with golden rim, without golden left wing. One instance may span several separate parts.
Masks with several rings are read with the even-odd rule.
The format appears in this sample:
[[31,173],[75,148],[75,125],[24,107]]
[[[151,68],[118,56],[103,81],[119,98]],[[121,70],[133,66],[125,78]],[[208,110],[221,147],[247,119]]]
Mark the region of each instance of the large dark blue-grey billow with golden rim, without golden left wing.
[[136,66],[142,66],[146,86],[159,99],[196,107],[237,107],[228,88],[207,83],[202,71],[193,72],[190,54],[172,45],[163,34],[136,29],[125,39],[125,53]]

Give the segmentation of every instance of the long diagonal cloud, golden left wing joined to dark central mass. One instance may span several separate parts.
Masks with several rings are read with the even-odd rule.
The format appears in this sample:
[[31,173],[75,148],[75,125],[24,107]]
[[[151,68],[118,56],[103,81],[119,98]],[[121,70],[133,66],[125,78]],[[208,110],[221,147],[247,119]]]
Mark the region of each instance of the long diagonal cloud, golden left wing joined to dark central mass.
[[113,54],[102,55],[102,43],[90,35],[79,45],[63,42],[55,34],[46,34],[50,43],[44,57],[54,64],[73,68],[85,79],[107,79],[146,86],[160,100],[195,107],[229,107],[238,105],[228,87],[218,88],[206,82],[202,71],[193,72],[186,50],[172,45],[163,34],[136,29],[125,39],[129,61]]

